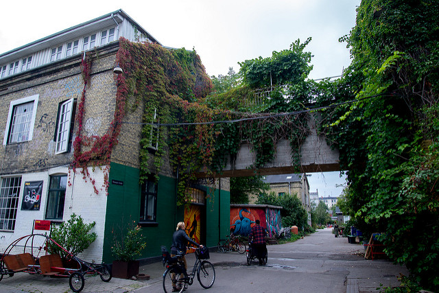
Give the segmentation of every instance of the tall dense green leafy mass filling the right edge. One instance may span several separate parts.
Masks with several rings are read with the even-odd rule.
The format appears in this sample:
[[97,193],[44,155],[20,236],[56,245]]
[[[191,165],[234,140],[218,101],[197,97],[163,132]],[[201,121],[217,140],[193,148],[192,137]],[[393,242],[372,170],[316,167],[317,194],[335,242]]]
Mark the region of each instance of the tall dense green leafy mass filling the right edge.
[[342,38],[353,58],[343,82],[359,101],[339,107],[329,123],[348,169],[346,202],[355,220],[384,232],[387,255],[433,291],[439,290],[438,12],[435,0],[361,1],[357,24]]

